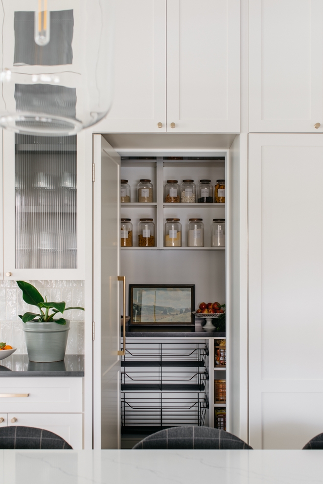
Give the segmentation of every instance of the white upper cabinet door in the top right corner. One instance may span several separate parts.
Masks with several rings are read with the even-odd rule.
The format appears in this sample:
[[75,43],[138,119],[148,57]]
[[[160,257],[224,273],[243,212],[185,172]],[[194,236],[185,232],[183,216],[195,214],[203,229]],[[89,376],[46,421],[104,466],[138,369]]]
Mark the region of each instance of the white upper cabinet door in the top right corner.
[[323,1],[249,0],[249,12],[249,131],[323,132]]

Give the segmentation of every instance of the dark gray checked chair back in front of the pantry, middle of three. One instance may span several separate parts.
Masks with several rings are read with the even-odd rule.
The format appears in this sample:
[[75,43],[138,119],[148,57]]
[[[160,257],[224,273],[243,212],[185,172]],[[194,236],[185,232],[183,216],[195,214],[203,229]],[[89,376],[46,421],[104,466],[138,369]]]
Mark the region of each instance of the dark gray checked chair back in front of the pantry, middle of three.
[[210,427],[172,427],[149,435],[134,449],[252,449],[225,430]]

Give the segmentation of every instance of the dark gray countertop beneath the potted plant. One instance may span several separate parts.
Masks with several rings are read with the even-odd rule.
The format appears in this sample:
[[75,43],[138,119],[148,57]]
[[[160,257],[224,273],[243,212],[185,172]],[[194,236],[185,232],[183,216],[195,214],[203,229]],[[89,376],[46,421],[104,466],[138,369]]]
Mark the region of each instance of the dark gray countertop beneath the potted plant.
[[27,354],[12,354],[0,360],[1,376],[84,376],[84,354],[67,354],[63,361],[51,363],[36,363],[29,361]]

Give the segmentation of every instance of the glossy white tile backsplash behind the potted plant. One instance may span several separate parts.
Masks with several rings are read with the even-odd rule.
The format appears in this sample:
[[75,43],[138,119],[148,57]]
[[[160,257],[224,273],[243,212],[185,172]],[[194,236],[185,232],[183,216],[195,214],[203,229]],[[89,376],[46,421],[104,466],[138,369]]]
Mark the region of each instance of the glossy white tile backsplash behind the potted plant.
[[[65,301],[67,307],[84,308],[84,281],[26,281],[37,287],[47,301]],[[0,341],[16,346],[15,354],[27,354],[23,336],[23,322],[18,317],[26,311],[37,312],[35,306],[23,301],[23,293],[16,281],[0,281]],[[58,313],[60,315],[60,313]],[[84,311],[66,311],[70,320],[66,354],[84,354]]]

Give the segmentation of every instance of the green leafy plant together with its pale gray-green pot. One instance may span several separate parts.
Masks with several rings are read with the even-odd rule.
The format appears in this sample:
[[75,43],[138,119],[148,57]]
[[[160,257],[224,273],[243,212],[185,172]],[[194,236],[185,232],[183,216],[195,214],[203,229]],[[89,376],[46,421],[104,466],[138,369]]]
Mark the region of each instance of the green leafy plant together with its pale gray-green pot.
[[[23,320],[23,331],[30,361],[61,361],[64,360],[66,344],[69,332],[69,320],[62,317],[54,319],[57,313],[64,313],[66,308],[64,301],[51,303],[44,301],[43,296],[36,287],[24,281],[17,281],[23,291],[23,300],[27,304],[36,306],[38,313],[25,312],[19,317]],[[49,314],[49,310],[52,312]]]

